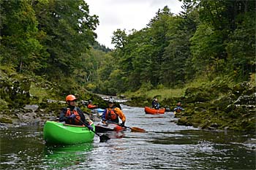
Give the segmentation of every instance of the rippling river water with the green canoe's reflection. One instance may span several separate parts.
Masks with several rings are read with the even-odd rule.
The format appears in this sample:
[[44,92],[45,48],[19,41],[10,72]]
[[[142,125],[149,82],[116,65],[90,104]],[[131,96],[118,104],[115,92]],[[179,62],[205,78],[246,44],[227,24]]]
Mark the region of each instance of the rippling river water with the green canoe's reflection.
[[127,126],[108,142],[48,146],[42,127],[1,127],[1,169],[255,169],[255,134],[176,125],[173,113],[122,106]]

